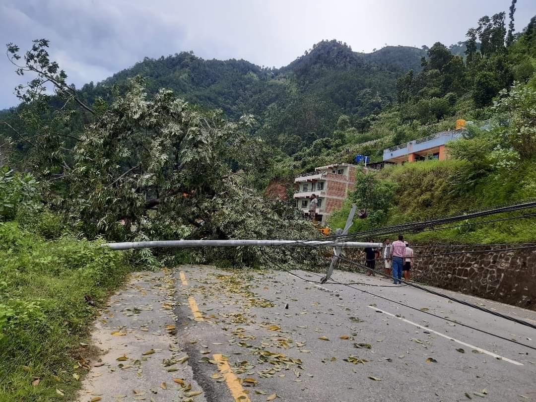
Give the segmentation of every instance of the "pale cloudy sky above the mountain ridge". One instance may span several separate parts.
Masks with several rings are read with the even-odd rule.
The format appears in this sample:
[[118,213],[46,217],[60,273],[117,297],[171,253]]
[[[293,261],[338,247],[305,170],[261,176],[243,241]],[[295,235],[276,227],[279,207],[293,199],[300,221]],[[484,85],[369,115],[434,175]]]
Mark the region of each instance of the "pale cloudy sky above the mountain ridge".
[[[510,0],[0,0],[2,45],[25,50],[50,40],[52,59],[81,86],[143,57],[183,50],[203,58],[243,58],[280,67],[322,39],[355,51],[385,44],[421,46],[464,40],[485,15]],[[518,0],[516,29],[536,14]],[[18,77],[0,57],[0,109],[16,105]]]

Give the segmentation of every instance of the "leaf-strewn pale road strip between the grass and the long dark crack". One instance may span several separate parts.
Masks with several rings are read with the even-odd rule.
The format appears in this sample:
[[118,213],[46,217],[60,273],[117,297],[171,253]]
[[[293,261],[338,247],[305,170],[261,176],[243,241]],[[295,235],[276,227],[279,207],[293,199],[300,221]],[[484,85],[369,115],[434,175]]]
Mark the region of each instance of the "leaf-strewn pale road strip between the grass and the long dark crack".
[[175,336],[175,292],[164,270],[133,273],[110,297],[76,374],[84,378],[78,402],[205,401]]

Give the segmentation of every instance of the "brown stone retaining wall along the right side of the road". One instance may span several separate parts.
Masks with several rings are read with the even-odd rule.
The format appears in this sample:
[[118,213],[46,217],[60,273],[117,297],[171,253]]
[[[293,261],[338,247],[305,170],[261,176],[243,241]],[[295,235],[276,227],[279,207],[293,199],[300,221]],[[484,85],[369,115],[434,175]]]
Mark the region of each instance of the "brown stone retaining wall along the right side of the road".
[[[523,245],[482,245],[469,250]],[[415,256],[468,250],[465,246],[415,247]],[[416,258],[412,279],[427,285],[536,310],[536,248]]]

